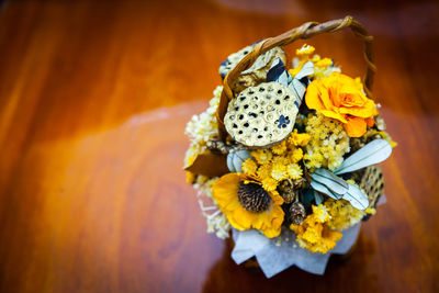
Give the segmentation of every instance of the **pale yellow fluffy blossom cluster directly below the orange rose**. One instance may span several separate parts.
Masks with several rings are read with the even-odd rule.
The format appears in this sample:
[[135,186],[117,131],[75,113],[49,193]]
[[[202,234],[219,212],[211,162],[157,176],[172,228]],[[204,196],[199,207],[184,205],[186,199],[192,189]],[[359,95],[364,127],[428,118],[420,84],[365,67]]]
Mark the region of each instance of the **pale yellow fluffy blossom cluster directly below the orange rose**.
[[349,136],[338,121],[322,114],[309,114],[304,121],[312,139],[304,156],[306,168],[338,168],[350,150]]

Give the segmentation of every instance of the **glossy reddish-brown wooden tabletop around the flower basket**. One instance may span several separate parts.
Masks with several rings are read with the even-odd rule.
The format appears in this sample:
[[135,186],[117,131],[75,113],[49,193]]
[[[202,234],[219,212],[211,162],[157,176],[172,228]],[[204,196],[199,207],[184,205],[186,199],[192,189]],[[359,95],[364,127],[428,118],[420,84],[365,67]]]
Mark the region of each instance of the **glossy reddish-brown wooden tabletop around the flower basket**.
[[[399,144],[387,203],[348,262],[267,280],[206,234],[184,125],[228,54],[348,13],[375,36],[374,94]],[[363,74],[350,32],[308,43]],[[1,292],[439,291],[437,1],[10,1],[0,44]]]

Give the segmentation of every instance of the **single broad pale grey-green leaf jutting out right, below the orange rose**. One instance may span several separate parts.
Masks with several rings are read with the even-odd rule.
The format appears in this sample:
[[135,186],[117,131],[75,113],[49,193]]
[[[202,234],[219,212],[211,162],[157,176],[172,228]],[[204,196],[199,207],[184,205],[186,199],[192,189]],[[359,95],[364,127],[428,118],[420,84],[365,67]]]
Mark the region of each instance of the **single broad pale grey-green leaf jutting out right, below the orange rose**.
[[392,154],[392,146],[385,139],[375,139],[353,153],[334,173],[342,174],[379,164]]

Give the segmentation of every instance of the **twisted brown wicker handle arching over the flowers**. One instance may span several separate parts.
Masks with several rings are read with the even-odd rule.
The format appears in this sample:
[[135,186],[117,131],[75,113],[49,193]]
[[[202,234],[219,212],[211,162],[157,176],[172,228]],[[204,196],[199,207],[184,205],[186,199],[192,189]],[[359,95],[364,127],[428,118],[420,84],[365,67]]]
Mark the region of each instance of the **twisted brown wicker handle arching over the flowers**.
[[256,44],[252,52],[246,55],[243,58],[243,60],[240,60],[236,65],[236,67],[232,69],[228,72],[228,75],[224,78],[224,88],[221,94],[219,105],[216,111],[221,139],[224,142],[227,136],[227,132],[224,126],[224,116],[227,112],[228,102],[234,99],[232,84],[239,77],[240,72],[251,67],[251,65],[256,61],[259,55],[277,46],[286,46],[300,38],[306,40],[322,33],[338,32],[346,27],[350,27],[353,34],[361,37],[364,42],[364,60],[368,66],[368,69],[365,71],[365,77],[363,80],[364,91],[367,95],[372,99],[373,76],[376,71],[376,67],[373,64],[373,49],[372,49],[373,37],[369,35],[364,26],[361,23],[353,20],[352,16],[346,16],[344,19],[328,21],[324,23],[306,22],[301,26],[288,31],[281,35],[266,38]]

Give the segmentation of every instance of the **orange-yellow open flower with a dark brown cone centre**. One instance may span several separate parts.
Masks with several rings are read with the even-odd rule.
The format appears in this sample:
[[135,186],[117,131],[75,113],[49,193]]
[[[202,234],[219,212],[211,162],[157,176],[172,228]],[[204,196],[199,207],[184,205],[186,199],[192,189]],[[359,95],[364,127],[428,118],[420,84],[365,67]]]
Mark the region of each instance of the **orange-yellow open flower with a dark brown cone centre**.
[[268,238],[281,233],[283,199],[277,191],[266,191],[257,177],[227,173],[215,181],[212,193],[236,229],[255,228]]

